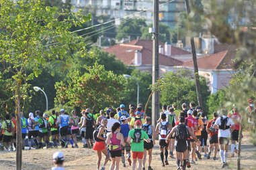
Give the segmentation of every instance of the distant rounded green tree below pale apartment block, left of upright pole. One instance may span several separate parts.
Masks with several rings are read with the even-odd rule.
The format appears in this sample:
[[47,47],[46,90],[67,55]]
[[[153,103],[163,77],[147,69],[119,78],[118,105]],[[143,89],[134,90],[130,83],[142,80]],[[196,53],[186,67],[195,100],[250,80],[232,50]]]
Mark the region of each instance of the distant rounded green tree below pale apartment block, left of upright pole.
[[116,39],[127,39],[130,36],[130,40],[132,41],[142,35],[142,31],[140,30],[140,28],[142,27],[146,27],[146,22],[144,19],[128,18],[126,20],[122,20],[120,25],[118,26],[118,33],[116,35]]

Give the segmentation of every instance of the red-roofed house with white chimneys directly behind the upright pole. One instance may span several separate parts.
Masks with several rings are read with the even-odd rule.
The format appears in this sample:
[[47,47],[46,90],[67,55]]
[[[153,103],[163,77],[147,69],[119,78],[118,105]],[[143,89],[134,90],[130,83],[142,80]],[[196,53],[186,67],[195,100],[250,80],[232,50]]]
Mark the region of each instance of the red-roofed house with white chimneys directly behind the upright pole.
[[[152,72],[153,41],[151,39],[137,39],[124,44],[117,44],[103,49],[105,52],[114,54],[116,59],[121,60],[128,66],[134,66],[140,71]],[[159,74],[173,71],[174,66],[181,66],[183,62],[173,56],[187,56],[191,54],[181,48],[173,47],[167,43],[159,43]]]

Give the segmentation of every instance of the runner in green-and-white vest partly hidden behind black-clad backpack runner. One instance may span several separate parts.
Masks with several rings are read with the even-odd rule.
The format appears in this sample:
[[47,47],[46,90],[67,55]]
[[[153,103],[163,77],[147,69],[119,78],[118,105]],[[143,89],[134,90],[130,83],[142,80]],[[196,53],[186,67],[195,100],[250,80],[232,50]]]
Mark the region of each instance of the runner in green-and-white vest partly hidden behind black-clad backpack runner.
[[[170,107],[169,108],[169,124],[171,124],[171,129],[175,126],[175,123],[177,122],[177,116],[174,113],[174,108]],[[169,150],[170,150],[170,157],[173,158],[173,151],[174,151],[174,143],[175,143],[175,138],[171,136],[171,140],[169,142]]]

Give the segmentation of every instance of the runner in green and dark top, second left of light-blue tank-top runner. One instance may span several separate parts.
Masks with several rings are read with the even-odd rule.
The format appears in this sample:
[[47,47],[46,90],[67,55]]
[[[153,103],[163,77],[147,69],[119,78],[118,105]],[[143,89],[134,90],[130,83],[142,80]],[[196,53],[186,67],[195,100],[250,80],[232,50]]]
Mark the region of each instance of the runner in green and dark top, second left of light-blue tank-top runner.
[[47,120],[43,118],[44,116],[43,112],[40,112],[38,116],[39,118],[36,122],[39,126],[39,133],[38,133],[39,148],[43,148],[42,139],[46,144],[46,148],[48,148],[49,141],[47,140],[48,139]]

